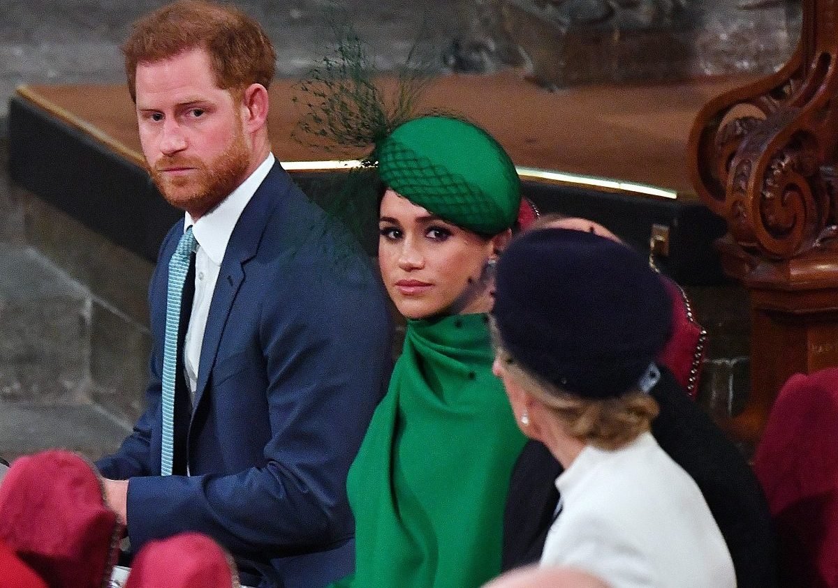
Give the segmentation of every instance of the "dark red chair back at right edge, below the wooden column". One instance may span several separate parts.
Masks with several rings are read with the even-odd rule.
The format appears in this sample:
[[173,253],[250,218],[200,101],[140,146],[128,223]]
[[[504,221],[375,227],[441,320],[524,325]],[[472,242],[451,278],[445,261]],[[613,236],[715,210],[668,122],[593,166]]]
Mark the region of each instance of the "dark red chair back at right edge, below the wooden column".
[[753,466],[777,527],[780,585],[838,586],[838,368],[784,384]]

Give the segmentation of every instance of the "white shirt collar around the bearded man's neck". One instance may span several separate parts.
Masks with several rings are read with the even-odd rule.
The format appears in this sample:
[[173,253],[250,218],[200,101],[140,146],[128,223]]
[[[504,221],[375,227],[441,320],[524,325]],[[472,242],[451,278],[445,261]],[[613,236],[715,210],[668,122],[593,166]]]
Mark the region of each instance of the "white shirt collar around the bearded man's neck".
[[242,211],[253,198],[256,189],[265,180],[267,173],[271,171],[275,161],[273,153],[269,152],[265,161],[261,162],[260,166],[239,184],[238,188],[235,188],[215,209],[210,210],[197,221],[186,213],[184,232],[192,227],[192,234],[195,235],[198,245],[216,266],[220,266],[221,260],[224,259],[227,243],[230,241],[230,235],[233,234]]

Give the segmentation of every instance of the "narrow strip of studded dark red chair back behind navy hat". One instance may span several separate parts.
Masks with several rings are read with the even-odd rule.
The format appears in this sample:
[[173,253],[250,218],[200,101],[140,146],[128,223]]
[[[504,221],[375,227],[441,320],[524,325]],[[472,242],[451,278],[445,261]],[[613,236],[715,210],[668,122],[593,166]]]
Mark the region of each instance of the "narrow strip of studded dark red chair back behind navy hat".
[[695,399],[704,360],[706,333],[691,316],[690,301],[666,276],[661,276],[672,300],[672,334],[658,361],[665,365],[681,386]]

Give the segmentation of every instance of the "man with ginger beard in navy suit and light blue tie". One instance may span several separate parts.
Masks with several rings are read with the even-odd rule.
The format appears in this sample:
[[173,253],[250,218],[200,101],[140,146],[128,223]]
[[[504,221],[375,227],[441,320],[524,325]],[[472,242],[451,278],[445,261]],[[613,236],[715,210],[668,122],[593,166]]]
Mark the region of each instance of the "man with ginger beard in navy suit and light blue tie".
[[345,481],[389,376],[383,291],[270,151],[255,21],[182,0],[123,52],[148,171],[185,214],[149,288],[147,409],[97,464],[106,498],[133,551],[199,531],[243,584],[327,584],[354,565]]

